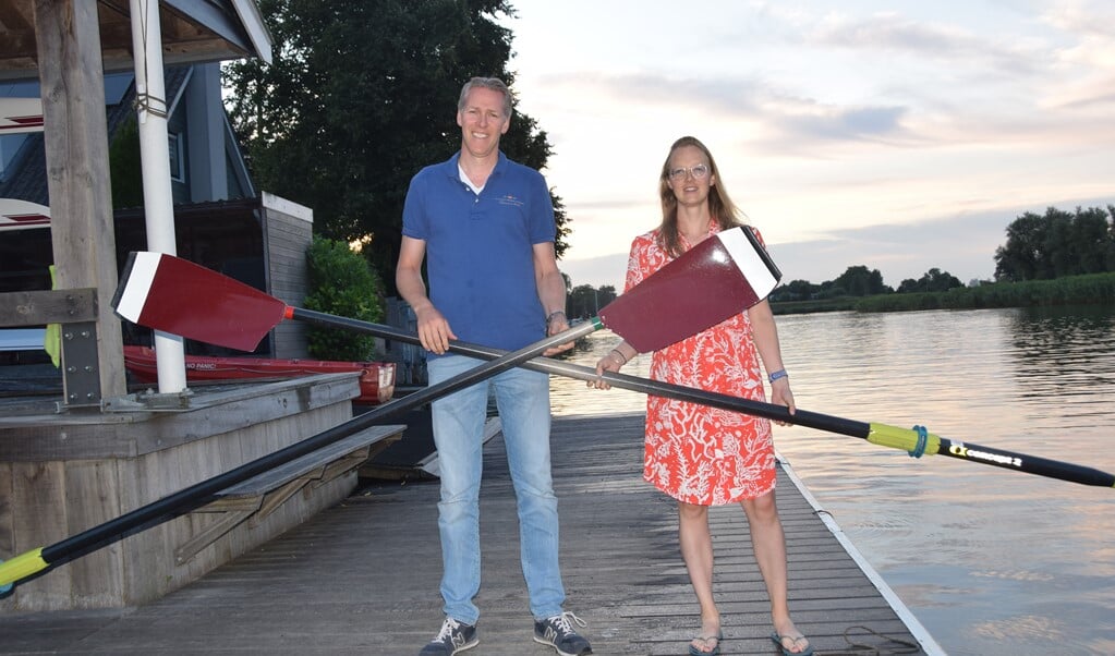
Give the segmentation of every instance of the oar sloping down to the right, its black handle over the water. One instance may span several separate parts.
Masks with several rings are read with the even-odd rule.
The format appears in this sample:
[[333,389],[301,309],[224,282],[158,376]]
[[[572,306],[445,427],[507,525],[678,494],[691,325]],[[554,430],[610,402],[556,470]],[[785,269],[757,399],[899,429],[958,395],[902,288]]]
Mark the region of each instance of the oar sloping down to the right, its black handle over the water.
[[[164,255],[164,258],[166,257],[167,255]],[[183,272],[183,274],[186,274],[186,272]],[[196,279],[190,281],[190,286],[209,290],[220,289],[220,291],[215,292],[215,296],[217,297],[224,296],[225,293],[231,295],[233,298],[231,298],[229,302],[224,302],[220,298],[214,299],[214,302],[217,302],[223,308],[227,308],[226,312],[229,313],[222,317],[220,321],[198,321],[196,320],[197,317],[193,312],[185,311],[177,303],[166,301],[165,305],[168,307],[149,308],[148,311],[146,311],[145,321],[148,321],[145,324],[146,326],[166,332],[184,335],[185,337],[191,337],[202,341],[227,345],[232,340],[241,338],[239,331],[249,331],[253,335],[252,339],[259,341],[259,339],[262,339],[262,336],[266,335],[269,330],[274,328],[283,318],[285,318],[317,324],[320,326],[346,328],[349,330],[367,332],[386,339],[395,339],[409,344],[420,344],[415,334],[389,326],[359,321],[346,317],[337,317],[324,312],[287,306],[283,301],[274,297],[268,296],[258,289],[248,287],[236,282],[235,280],[225,278],[224,276],[209,269],[193,266],[193,269],[188,271],[188,274],[196,276]],[[762,271],[753,272],[752,276],[755,278],[762,278]],[[155,283],[157,288],[163,288],[164,284],[166,284],[165,289],[158,290],[156,298],[173,298],[174,289],[177,289],[182,282],[177,280],[169,282],[169,280],[171,278],[168,277],[166,282],[161,280]],[[628,293],[620,297],[620,299],[627,298],[637,289],[639,288],[632,289]],[[158,305],[162,306],[164,303]],[[601,311],[601,313],[603,313],[603,311]],[[230,328],[226,328],[225,326],[234,326],[237,332],[230,336]],[[627,336],[623,337],[627,338]],[[497,358],[505,353],[500,349],[462,341],[450,341],[449,350],[479,359]],[[646,351],[655,349],[639,347],[639,350]],[[595,369],[550,358],[535,358],[522,366],[536,372],[568,376],[570,378],[578,378],[581,380],[594,380],[598,378]],[[856,422],[803,409],[797,409],[793,415],[791,415],[789,412],[780,405],[762,403],[623,374],[605,373],[603,375],[603,379],[613,387],[630,389],[632,392],[640,392],[643,394],[665,396],[678,401],[688,401],[721,409],[735,411],[779,422],[786,422],[789,424],[816,428],[828,433],[836,433],[838,435],[859,437],[880,446],[900,448],[911,455],[920,456],[940,454],[958,460],[1002,467],[1006,470],[1059,479],[1072,483],[1097,485],[1102,488],[1115,486],[1115,475],[1107,472],[1056,460],[1027,455],[1024,453],[966,443],[958,440],[953,441],[928,433],[923,428],[919,427],[902,428],[881,423]]]

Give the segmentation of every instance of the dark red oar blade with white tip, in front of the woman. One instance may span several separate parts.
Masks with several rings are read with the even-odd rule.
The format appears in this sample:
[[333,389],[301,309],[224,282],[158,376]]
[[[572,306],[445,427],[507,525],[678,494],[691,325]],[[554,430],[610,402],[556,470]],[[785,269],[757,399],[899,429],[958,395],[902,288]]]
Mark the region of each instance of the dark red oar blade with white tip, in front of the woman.
[[759,302],[782,272],[746,226],[706,239],[600,310],[640,353],[658,350]]

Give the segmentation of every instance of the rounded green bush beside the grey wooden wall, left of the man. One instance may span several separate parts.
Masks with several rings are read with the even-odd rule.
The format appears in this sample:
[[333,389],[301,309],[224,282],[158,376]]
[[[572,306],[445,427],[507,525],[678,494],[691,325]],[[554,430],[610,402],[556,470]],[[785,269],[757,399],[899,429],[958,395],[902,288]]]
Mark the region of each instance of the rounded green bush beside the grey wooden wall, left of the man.
[[[303,305],[309,310],[349,317],[360,321],[384,320],[384,283],[368,261],[341,241],[314,237],[306,251],[310,292]],[[310,355],[323,360],[370,360],[376,339],[370,335],[310,327]]]

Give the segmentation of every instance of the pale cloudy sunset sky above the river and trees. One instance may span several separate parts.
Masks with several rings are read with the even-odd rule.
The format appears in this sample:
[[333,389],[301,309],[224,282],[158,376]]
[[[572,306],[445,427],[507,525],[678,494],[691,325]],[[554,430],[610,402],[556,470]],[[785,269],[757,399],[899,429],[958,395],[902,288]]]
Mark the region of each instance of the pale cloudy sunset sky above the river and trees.
[[1026,212],[1115,204],[1109,0],[511,0],[517,109],[571,220],[572,283],[623,289],[683,135],[783,281],[995,274]]

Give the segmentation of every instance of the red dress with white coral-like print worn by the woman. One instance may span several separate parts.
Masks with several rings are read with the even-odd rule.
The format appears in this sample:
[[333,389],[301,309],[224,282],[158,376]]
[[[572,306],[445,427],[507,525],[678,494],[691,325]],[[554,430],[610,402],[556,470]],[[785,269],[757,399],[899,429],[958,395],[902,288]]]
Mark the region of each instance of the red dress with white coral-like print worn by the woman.
[[[709,234],[718,232],[715,222]],[[672,258],[658,243],[658,230],[634,239],[626,290]],[[756,235],[759,241],[763,238]],[[682,248],[690,244],[681,239]],[[747,312],[651,355],[650,377],[754,401],[766,401],[758,349]],[[775,485],[769,419],[647,396],[642,477],[670,496],[697,505],[755,499]]]

